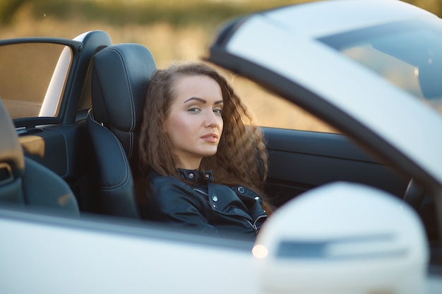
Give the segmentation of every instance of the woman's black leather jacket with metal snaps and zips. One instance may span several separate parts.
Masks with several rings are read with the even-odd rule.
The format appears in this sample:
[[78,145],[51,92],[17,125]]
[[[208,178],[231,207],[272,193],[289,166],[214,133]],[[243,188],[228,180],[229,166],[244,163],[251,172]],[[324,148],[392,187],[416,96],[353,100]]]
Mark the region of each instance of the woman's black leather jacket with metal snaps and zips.
[[145,215],[153,221],[196,228],[215,235],[254,240],[267,214],[261,197],[242,186],[213,183],[210,171],[180,169],[184,181],[151,172],[151,200]]

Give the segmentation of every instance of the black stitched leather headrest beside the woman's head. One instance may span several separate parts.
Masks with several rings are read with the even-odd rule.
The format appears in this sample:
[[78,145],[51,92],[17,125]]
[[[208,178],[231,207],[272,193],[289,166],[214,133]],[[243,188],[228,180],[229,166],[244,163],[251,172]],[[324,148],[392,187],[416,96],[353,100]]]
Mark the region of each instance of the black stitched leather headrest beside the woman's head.
[[118,137],[129,159],[148,82],[156,69],[152,54],[140,44],[116,44],[95,54],[92,115]]

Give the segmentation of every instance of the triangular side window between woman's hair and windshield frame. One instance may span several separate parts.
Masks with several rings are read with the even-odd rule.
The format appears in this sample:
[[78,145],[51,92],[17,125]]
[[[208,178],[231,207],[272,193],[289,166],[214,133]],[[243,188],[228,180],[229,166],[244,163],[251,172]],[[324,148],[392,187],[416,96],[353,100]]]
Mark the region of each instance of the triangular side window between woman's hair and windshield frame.
[[254,82],[234,76],[232,84],[258,125],[290,130],[340,133],[304,109],[268,92]]

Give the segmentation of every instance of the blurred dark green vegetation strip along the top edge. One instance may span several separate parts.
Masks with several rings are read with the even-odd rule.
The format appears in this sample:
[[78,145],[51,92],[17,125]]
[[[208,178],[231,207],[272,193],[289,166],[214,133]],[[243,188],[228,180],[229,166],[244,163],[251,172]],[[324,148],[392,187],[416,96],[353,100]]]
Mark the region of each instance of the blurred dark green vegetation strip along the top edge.
[[30,6],[35,18],[75,18],[114,25],[165,22],[177,26],[220,23],[232,16],[306,1],[309,0],[8,0],[0,4],[0,17],[2,23],[10,23],[21,6]]

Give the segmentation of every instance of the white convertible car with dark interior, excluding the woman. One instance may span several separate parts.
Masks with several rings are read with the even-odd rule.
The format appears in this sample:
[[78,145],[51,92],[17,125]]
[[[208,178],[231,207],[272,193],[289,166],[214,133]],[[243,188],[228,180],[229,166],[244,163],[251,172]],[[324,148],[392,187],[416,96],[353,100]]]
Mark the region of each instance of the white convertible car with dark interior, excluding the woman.
[[442,293],[440,18],[285,6],[229,20],[205,61],[339,130],[263,127],[278,208],[255,243],[138,215],[146,47],[0,41],[0,293]]

